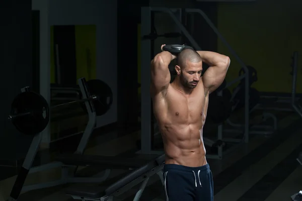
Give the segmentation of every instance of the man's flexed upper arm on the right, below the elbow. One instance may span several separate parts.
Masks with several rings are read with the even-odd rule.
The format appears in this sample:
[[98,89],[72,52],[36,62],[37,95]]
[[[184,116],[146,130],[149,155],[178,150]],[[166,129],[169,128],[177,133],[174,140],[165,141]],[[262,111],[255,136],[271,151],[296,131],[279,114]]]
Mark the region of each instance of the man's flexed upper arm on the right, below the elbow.
[[209,67],[202,76],[202,82],[208,93],[213,92],[223,82],[227,69],[221,69],[219,66]]

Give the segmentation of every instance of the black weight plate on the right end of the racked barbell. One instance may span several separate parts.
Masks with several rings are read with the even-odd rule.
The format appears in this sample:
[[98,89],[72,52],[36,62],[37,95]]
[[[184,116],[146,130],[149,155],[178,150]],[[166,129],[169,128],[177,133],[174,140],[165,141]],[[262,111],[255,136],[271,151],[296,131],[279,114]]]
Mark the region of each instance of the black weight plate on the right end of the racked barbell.
[[[93,101],[97,116],[104,115],[112,105],[113,94],[110,86],[99,79],[91,79],[86,82],[86,85],[90,94],[98,97]],[[81,106],[87,111],[85,103],[82,103]]]

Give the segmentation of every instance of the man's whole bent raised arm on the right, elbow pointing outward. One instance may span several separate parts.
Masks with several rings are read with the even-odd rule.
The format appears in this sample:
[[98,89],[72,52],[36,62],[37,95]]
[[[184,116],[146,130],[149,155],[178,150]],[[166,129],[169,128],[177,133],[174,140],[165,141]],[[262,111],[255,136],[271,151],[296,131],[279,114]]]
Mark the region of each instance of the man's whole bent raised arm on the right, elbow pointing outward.
[[202,62],[209,65],[202,76],[205,92],[209,94],[223,82],[231,60],[228,56],[216,52],[197,51],[197,53],[200,55]]

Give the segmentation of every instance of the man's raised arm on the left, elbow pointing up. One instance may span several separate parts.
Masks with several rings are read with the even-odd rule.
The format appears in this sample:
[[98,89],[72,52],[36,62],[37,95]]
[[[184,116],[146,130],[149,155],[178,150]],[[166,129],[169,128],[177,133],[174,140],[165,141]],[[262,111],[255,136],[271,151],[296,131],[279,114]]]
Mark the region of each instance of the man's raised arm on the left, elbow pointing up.
[[151,92],[153,95],[160,92],[166,95],[171,80],[168,66],[175,58],[170,52],[163,51],[151,61]]

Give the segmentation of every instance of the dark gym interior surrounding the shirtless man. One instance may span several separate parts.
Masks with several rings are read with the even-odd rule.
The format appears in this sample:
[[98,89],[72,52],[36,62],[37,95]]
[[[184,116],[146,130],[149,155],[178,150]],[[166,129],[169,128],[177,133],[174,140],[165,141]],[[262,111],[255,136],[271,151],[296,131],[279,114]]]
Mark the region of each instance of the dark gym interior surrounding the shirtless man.
[[[0,201],[169,200],[150,96],[150,62],[163,44],[231,60],[201,129],[213,199],[302,200],[301,8],[3,1]],[[203,62],[201,77],[211,67]]]

